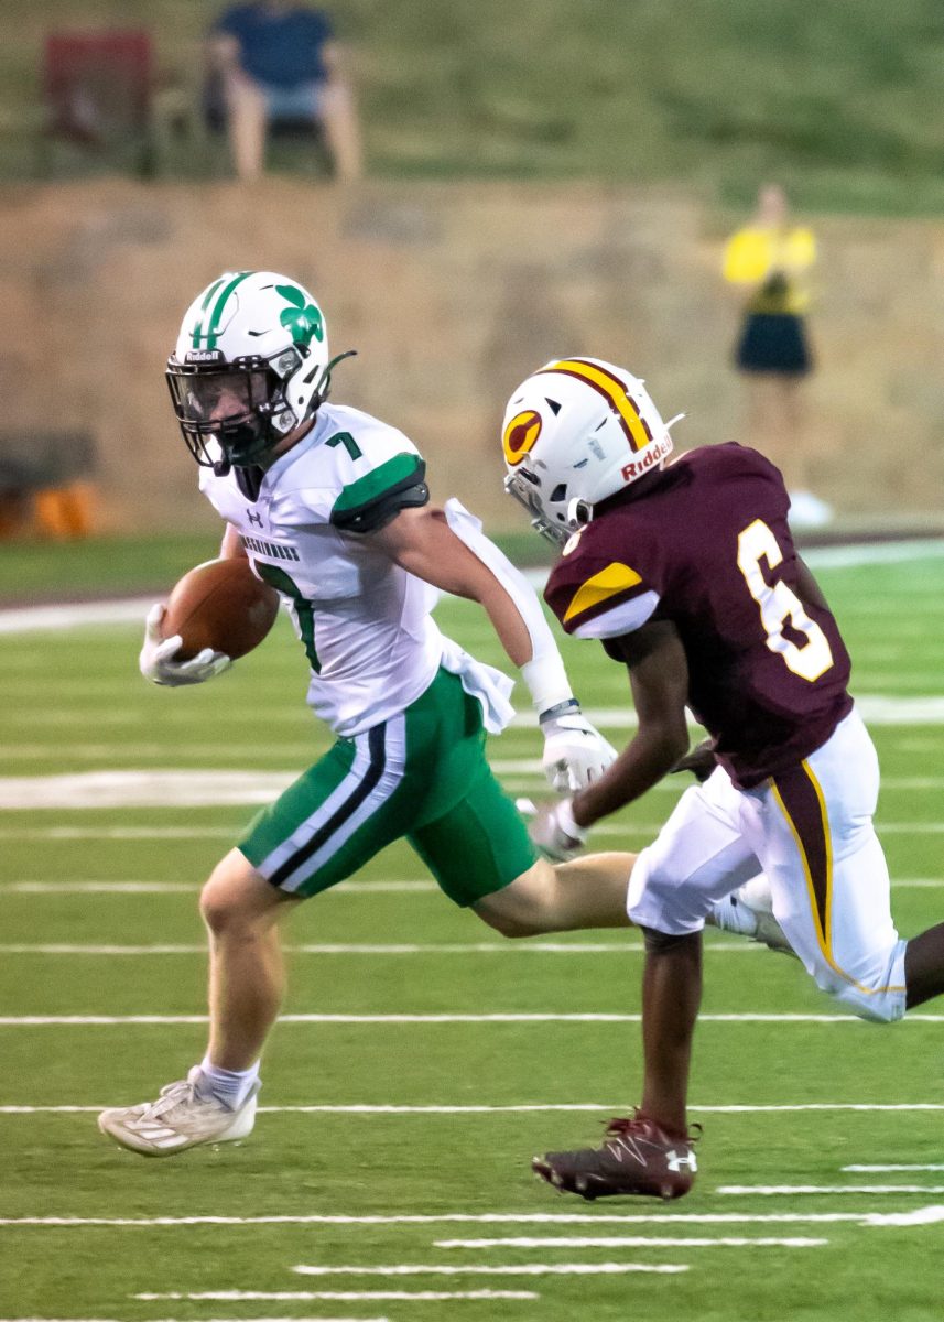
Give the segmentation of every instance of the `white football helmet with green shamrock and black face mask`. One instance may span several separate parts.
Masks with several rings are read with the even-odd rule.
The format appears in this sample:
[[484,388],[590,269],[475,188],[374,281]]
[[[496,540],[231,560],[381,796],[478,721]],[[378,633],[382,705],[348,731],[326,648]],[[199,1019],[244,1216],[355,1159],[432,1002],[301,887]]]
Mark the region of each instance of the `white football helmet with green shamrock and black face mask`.
[[190,453],[221,475],[258,464],[317,412],[337,361],[303,286],[275,271],[226,271],[186,309],[167,364]]

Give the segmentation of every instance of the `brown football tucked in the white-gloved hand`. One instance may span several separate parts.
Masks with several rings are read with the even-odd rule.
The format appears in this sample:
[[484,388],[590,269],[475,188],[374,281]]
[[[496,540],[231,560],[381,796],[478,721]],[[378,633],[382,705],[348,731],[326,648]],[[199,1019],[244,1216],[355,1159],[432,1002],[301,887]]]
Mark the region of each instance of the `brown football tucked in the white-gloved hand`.
[[161,633],[165,639],[180,633],[181,661],[204,648],[225,652],[235,661],[259,646],[278,613],[279,594],[253,574],[247,559],[208,561],[175,586]]

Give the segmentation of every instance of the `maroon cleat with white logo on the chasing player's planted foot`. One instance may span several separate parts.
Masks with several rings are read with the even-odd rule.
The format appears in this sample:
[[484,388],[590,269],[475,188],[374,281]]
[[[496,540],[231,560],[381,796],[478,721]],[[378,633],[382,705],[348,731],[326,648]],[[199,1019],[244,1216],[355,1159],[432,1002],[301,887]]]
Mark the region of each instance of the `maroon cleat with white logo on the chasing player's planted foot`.
[[695,1137],[673,1138],[654,1120],[636,1112],[631,1120],[611,1120],[600,1147],[546,1153],[531,1161],[531,1169],[562,1192],[591,1202],[627,1194],[682,1198],[698,1170],[691,1146]]

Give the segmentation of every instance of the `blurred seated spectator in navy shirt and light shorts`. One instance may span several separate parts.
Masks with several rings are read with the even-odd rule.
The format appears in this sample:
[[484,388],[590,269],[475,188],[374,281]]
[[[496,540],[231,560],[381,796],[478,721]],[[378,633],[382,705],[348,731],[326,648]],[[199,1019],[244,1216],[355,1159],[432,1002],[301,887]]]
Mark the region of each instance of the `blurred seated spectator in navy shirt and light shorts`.
[[262,175],[270,124],[299,120],[324,134],[337,178],[360,176],[357,110],[324,11],[291,0],[231,5],[210,33],[210,61],[239,178]]

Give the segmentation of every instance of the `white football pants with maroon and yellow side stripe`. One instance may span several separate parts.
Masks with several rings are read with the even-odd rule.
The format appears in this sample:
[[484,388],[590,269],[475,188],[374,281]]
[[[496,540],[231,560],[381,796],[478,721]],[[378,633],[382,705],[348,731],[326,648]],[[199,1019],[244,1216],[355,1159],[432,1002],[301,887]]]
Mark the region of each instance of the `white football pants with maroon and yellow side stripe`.
[[718,767],[639,855],[627,911],[682,936],[763,871],[773,916],[817,986],[863,1019],[904,1014],[904,947],[873,826],[878,758],[855,711],[800,765],[756,789]]

